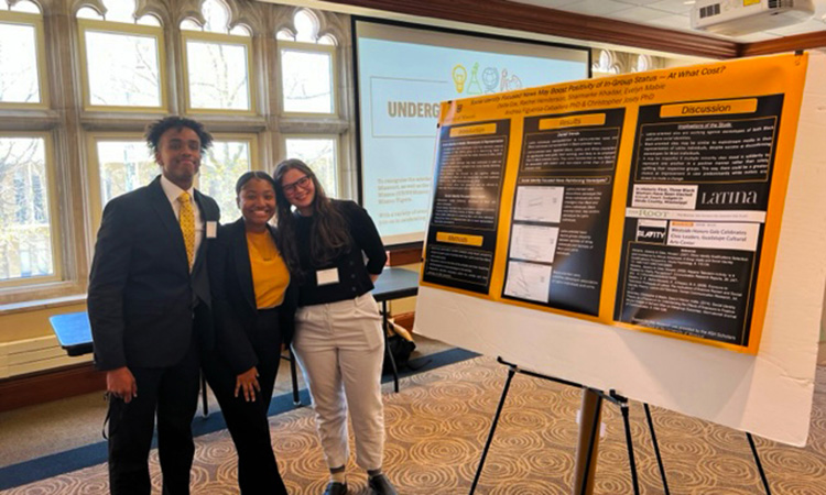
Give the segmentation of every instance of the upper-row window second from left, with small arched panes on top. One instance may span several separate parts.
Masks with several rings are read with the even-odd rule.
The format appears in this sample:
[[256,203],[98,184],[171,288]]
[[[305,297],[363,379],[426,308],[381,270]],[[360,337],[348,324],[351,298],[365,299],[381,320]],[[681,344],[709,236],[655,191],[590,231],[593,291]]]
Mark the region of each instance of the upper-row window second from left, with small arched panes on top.
[[77,12],[87,110],[166,108],[163,31],[134,18],[134,0],[104,0],[105,14]]

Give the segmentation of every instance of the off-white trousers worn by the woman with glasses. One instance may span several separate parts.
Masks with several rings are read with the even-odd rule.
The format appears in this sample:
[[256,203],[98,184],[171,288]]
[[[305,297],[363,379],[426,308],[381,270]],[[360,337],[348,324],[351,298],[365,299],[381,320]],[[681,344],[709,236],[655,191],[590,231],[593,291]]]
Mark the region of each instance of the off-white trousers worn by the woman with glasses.
[[349,459],[349,408],[356,437],[356,463],[365,470],[381,468],[384,338],[381,315],[372,295],[298,308],[293,352],[309,386],[327,465],[339,468]]

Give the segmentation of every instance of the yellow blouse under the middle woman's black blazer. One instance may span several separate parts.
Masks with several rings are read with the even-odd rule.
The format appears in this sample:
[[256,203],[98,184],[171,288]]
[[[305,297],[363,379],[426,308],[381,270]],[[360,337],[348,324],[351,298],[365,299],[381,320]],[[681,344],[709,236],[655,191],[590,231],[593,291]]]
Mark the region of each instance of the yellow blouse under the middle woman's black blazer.
[[290,285],[290,271],[272,235],[268,231],[247,232],[247,249],[250,252],[256,306],[265,309],[281,305]]

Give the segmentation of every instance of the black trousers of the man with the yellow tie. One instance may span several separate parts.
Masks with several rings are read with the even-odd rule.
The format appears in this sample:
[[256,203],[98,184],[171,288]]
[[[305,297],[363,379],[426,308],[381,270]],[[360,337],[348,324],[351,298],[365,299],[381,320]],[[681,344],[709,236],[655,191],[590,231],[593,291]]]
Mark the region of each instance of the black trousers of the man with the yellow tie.
[[198,345],[170,367],[130,367],[138,395],[109,399],[109,486],[113,495],[148,495],[149,451],[157,415],[157,454],[164,495],[189,493],[195,453],[192,419],[198,403]]

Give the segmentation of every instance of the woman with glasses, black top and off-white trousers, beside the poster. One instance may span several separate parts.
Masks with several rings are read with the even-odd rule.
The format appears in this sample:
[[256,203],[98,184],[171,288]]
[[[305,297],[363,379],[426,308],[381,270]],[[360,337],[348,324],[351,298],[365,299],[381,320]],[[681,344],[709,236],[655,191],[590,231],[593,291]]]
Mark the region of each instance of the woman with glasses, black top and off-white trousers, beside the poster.
[[293,350],[313,396],[330,470],[324,493],[347,493],[349,408],[356,463],[367,471],[373,494],[395,494],[381,465],[384,339],[370,294],[387,262],[381,238],[363,208],[327,198],[303,162],[286,160],[273,176],[280,186],[276,204],[283,254],[298,280]]

